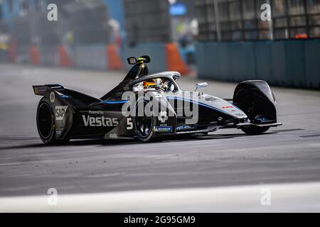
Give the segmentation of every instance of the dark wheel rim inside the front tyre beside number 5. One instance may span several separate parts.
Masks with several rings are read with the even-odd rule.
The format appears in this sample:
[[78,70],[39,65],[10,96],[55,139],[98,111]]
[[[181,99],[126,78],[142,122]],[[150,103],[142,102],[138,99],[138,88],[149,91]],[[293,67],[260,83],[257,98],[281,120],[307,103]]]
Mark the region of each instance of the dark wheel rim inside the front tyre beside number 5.
[[[144,107],[147,102],[144,101]],[[154,124],[154,120],[152,116],[138,116],[138,105],[136,106],[135,117],[134,117],[134,125],[136,127],[137,134],[141,138],[147,138],[152,132],[152,126]]]

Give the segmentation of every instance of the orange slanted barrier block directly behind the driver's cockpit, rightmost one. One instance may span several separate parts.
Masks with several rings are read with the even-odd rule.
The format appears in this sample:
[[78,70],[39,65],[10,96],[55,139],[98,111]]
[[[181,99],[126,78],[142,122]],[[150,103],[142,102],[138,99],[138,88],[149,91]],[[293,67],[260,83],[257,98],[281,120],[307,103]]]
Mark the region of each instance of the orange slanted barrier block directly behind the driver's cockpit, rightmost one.
[[166,44],[166,60],[169,71],[177,71],[181,74],[188,74],[190,70],[183,61],[176,43]]

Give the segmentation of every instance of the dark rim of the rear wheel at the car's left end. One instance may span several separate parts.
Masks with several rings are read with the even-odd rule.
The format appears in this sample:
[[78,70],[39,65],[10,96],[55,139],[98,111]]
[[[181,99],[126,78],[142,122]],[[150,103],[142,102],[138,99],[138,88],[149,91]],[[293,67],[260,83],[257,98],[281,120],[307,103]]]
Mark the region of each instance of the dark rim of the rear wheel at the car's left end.
[[44,139],[49,138],[53,131],[52,112],[46,103],[41,104],[38,109],[38,129]]

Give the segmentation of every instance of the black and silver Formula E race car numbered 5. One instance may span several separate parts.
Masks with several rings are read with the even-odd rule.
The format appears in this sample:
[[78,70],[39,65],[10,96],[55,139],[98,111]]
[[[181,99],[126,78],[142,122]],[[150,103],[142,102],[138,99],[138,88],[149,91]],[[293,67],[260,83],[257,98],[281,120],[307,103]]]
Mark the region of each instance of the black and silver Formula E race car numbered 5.
[[33,86],[34,94],[43,96],[36,116],[43,143],[117,138],[147,142],[163,135],[207,135],[220,128],[259,135],[282,125],[267,82],[242,82],[233,99],[220,99],[197,92],[206,83],[196,84],[195,92],[181,91],[178,72],[149,74],[149,56],[129,57],[128,62],[133,67],[127,76],[100,99],[58,84]]

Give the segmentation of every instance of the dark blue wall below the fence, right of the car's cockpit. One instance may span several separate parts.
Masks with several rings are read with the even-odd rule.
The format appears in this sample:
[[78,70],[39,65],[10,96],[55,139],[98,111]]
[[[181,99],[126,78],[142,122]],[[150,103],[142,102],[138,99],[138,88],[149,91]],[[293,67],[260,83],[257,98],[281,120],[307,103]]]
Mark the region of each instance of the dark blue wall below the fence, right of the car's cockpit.
[[320,40],[198,43],[200,78],[320,88]]

